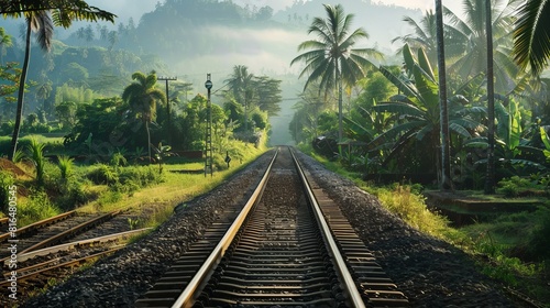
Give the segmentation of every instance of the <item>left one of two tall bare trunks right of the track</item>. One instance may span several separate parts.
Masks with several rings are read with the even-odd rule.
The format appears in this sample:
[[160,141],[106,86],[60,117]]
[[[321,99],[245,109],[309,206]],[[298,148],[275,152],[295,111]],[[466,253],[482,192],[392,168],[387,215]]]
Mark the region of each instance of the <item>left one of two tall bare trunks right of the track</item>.
[[440,106],[440,135],[441,135],[441,183],[440,189],[452,189],[450,146],[449,146],[449,111],[447,103],[447,73],[443,38],[443,10],[441,0],[436,0],[436,23],[438,43],[438,76],[439,76],[439,106]]

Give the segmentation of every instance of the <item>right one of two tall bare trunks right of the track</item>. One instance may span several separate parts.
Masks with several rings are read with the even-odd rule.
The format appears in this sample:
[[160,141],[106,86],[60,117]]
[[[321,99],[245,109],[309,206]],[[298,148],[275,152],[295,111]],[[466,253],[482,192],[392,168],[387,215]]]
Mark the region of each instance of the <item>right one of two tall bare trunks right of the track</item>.
[[487,170],[485,174],[485,195],[495,193],[495,86],[493,72],[493,23],[491,1],[485,1],[485,34],[487,35]]

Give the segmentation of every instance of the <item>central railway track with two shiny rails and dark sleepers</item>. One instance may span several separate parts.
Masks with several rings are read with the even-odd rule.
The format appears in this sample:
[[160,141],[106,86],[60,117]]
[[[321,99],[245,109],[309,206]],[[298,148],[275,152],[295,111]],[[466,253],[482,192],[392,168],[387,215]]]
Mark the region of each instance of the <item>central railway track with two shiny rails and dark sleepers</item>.
[[235,222],[208,230],[136,307],[407,306],[338,207],[278,153]]

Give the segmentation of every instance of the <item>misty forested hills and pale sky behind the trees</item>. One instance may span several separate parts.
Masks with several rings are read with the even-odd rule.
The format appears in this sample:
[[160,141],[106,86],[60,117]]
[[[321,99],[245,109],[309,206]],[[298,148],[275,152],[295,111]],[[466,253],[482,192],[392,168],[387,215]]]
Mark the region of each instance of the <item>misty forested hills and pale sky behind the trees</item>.
[[[314,16],[324,18],[323,0],[296,1],[284,11],[270,7],[239,6],[232,1],[166,0],[145,13],[139,22],[130,19],[112,24],[77,23],[70,35],[56,29],[54,51],[45,55],[33,42],[29,79],[52,82],[53,89],[69,82],[86,86],[102,95],[120,95],[135,70],[155,69],[158,75],[177,76],[204,89],[207,73],[212,74],[215,89],[234,65],[245,65],[254,75],[267,75],[283,80],[284,101],[278,117],[272,119],[274,130],[288,135],[292,106],[302,89],[297,80],[298,65],[290,61],[298,55],[299,43],[310,40],[307,30]],[[364,28],[371,38],[362,47],[375,45],[392,53],[391,40],[409,33],[404,15],[420,19],[419,10],[378,6],[370,1],[342,0],[346,13],[354,13],[353,28]],[[334,4],[334,3],[333,3]],[[4,61],[22,63],[19,20],[3,20],[15,46],[8,50]],[[80,25],[82,24],[82,25]],[[67,37],[68,36],[68,37]],[[28,96],[32,98],[33,96]],[[32,111],[36,102],[26,105]],[[274,134],[275,138],[275,134]],[[279,138],[284,143],[289,138]]]

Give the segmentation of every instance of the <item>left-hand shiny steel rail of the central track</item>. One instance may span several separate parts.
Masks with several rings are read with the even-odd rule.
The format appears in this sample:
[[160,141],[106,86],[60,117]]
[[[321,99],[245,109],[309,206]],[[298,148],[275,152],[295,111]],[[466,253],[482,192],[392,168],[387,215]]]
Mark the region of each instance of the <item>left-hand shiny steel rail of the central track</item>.
[[267,179],[270,178],[271,170],[273,167],[273,163],[275,162],[275,158],[277,157],[278,152],[280,148],[277,148],[275,152],[275,155],[273,155],[273,158],[270,163],[270,166],[265,170],[264,176],[260,180],[258,186],[252,194],[252,197],[249,199],[246,205],[243,207],[239,216],[237,217],[235,221],[231,224],[231,227],[228,229],[223,238],[221,239],[220,243],[216,246],[216,249],[212,251],[212,253],[208,256],[208,258],[205,261],[204,265],[199,268],[197,274],[191,278],[187,287],[183,290],[183,293],[179,295],[179,297],[176,299],[176,301],[172,305],[173,308],[180,308],[180,307],[191,307],[194,304],[193,301],[195,300],[195,293],[201,286],[204,283],[207,282],[208,277],[212,274],[213,270],[218,264],[220,263],[221,258],[226,254],[226,251],[228,248],[231,245],[231,242],[233,241],[237,232],[245,221],[246,217],[249,216],[250,210],[253,208],[253,206],[256,204],[260,196],[262,195],[265,185],[267,184]]

